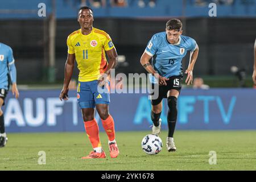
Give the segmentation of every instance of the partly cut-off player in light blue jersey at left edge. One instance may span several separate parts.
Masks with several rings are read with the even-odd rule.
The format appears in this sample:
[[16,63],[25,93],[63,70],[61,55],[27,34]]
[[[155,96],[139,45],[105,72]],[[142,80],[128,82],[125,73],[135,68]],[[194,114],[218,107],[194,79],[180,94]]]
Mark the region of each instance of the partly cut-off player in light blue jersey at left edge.
[[12,84],[11,90],[13,94],[18,98],[19,91],[16,85],[13,50],[6,44],[0,43],[0,147],[4,147],[7,142],[2,106],[5,105],[5,98],[10,84]]

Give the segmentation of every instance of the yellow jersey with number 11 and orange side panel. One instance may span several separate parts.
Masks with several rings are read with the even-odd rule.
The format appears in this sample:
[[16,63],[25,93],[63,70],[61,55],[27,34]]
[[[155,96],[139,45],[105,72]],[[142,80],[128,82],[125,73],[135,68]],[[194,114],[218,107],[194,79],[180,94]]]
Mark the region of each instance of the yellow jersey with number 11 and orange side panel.
[[93,28],[88,35],[83,35],[81,29],[74,31],[67,39],[68,53],[75,53],[79,81],[93,81],[104,73],[108,66],[105,51],[114,48],[110,36],[102,30]]

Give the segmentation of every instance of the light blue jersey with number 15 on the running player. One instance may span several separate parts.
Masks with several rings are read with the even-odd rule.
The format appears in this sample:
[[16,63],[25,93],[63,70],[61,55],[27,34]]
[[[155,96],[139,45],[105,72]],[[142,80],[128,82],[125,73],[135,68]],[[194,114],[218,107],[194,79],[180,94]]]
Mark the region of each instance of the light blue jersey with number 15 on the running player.
[[[167,41],[166,32],[160,32],[152,36],[147,44],[145,52],[150,56],[156,56],[152,66],[160,76],[170,78],[171,76],[183,75],[181,61],[187,51],[195,51],[196,41],[188,36],[180,35],[179,42],[170,44]],[[155,82],[151,76],[151,82]]]

